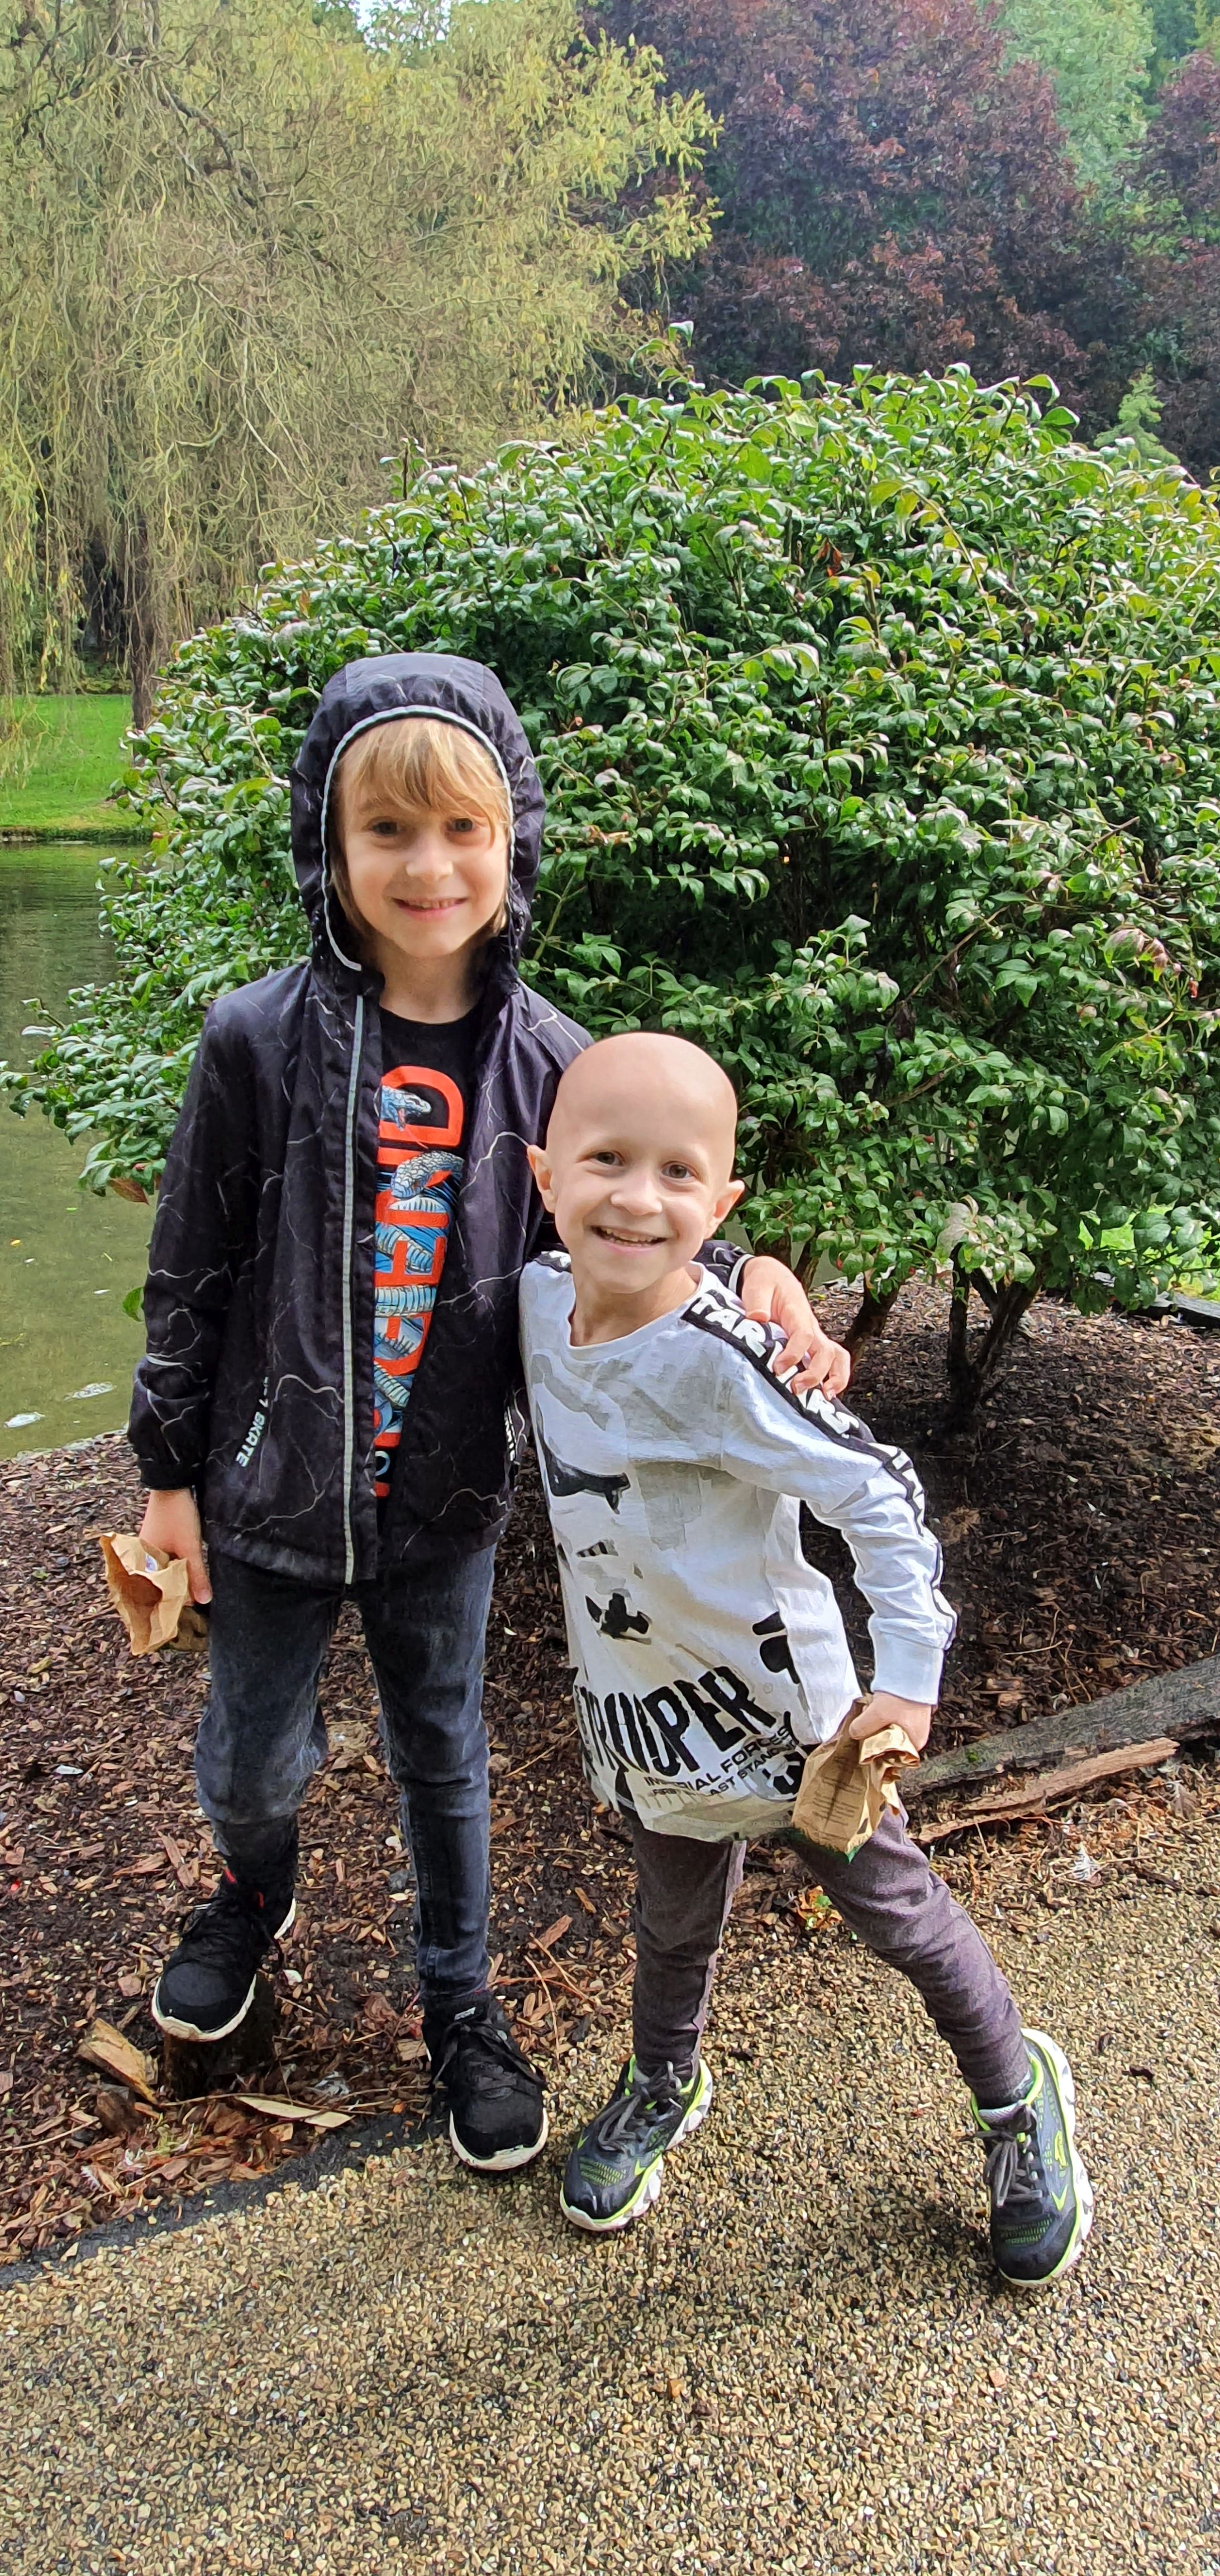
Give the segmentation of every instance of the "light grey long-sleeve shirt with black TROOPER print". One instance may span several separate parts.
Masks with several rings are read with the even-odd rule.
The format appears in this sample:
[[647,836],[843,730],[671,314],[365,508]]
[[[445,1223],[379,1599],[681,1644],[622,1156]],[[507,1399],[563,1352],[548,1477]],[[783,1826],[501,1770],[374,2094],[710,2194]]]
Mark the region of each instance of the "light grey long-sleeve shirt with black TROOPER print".
[[939,1692],[955,1620],[911,1461],[782,1386],[782,1334],[710,1273],[677,1314],[574,1350],[571,1270],[546,1255],[520,1311],[589,1785],[654,1832],[770,1832],[860,1687],[803,1502],[873,1605],[873,1687]]

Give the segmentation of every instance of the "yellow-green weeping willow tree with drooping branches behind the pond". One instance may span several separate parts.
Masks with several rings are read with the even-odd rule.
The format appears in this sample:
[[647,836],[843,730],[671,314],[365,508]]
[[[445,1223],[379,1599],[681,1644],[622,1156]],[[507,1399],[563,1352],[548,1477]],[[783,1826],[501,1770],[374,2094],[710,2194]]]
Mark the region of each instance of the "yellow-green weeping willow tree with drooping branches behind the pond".
[[[698,100],[574,0],[5,0],[0,690],[62,685],[93,587],[136,724],[265,559],[468,461],[623,355],[700,240]],[[646,173],[649,209],[618,196]]]

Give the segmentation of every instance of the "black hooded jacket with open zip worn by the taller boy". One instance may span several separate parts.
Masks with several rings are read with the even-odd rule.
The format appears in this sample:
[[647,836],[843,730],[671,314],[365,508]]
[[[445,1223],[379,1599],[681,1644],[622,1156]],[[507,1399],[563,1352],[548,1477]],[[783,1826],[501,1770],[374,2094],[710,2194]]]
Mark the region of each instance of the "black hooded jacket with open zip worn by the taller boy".
[[[373,1200],[381,976],[329,886],[335,765],[407,708],[476,734],[512,801],[507,927],[481,997],[466,1175],[427,1360],[381,1528],[373,1494]],[[293,768],[309,963],[208,1010],[152,1229],[147,1355],[129,1437],[144,1484],[193,1486],[214,1546],[309,1584],[368,1582],[422,1533],[458,1551],[504,1525],[517,1412],[517,1280],[543,1242],[525,1144],[587,1046],[517,976],[543,791],[499,680],[450,654],[350,662]]]

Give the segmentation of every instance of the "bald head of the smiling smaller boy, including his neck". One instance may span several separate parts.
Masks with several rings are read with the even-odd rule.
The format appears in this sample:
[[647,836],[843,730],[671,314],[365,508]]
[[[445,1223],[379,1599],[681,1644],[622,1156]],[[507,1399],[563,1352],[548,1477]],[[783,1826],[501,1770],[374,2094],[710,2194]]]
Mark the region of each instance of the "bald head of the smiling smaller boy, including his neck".
[[690,1296],[690,1262],[741,1198],[734,1133],[731,1082],[685,1038],[605,1038],[577,1056],[546,1146],[530,1146],[571,1255],[574,1340],[636,1332]]

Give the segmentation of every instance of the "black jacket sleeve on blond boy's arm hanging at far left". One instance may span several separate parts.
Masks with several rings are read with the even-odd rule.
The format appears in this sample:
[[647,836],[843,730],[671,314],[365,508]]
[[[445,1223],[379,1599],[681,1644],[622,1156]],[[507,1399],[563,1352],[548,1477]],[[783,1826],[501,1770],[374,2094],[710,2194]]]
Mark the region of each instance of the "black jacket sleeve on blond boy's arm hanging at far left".
[[196,1486],[234,1278],[257,1213],[252,1069],[214,1005],[172,1131],[144,1283],[147,1347],[126,1437],[147,1486]]

